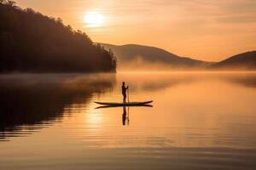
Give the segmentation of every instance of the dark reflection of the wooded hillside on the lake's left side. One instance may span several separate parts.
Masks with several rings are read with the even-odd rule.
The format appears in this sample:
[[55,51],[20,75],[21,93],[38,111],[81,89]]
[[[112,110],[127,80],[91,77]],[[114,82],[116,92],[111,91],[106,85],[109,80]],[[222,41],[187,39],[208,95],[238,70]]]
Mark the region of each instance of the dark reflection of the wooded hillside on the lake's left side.
[[8,133],[19,131],[20,126],[40,127],[58,120],[67,105],[86,104],[93,93],[113,88],[115,77],[22,75],[1,76],[0,80],[0,139],[3,139]]

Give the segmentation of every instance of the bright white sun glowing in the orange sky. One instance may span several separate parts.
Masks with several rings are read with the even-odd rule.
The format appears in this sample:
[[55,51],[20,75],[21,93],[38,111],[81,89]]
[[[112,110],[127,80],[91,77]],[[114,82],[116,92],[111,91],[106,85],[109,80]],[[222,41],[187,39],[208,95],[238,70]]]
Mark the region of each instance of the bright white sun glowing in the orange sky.
[[104,16],[97,11],[90,11],[84,15],[84,24],[86,27],[95,28],[103,26]]

